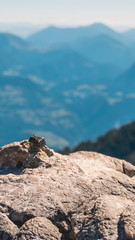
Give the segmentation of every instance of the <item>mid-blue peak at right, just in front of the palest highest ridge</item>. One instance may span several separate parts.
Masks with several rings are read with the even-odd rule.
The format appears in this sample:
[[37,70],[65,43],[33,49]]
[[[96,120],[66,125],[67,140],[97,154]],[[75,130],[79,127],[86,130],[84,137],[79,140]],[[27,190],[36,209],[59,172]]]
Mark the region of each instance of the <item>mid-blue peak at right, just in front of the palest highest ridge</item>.
[[135,54],[128,46],[105,34],[79,39],[72,42],[71,46],[88,59],[113,64],[123,69],[135,61]]

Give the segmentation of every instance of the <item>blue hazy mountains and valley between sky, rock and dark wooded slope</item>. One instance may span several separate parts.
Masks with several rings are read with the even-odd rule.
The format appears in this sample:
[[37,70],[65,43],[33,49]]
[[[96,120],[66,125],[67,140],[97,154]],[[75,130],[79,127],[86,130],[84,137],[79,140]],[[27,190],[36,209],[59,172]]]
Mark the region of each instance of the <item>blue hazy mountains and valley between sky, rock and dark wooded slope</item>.
[[0,62],[0,145],[36,134],[59,149],[135,119],[135,29],[0,33]]

